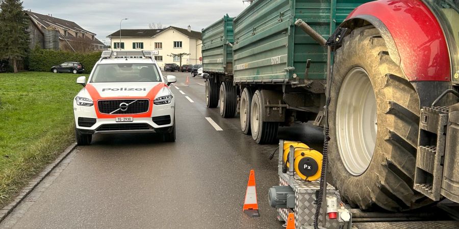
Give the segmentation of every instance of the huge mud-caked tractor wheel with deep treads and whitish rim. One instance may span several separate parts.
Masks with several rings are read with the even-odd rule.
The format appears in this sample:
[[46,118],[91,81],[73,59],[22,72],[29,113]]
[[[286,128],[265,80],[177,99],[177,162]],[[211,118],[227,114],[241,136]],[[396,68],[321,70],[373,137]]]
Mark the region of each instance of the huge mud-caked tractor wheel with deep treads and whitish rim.
[[328,168],[343,197],[363,210],[431,203],[413,190],[419,97],[373,26],[344,38],[330,95]]

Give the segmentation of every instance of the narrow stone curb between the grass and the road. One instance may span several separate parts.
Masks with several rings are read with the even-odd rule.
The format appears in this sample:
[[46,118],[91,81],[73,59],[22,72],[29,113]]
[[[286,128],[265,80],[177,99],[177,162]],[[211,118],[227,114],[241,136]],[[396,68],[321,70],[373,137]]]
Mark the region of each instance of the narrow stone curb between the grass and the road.
[[12,203],[10,203],[9,205],[5,206],[2,210],[0,210],[0,223],[23,201],[23,199],[25,197],[27,197],[27,195],[29,195],[29,193],[31,193],[35,187],[37,187],[38,184],[40,184],[40,182],[46,177],[48,176],[48,174],[51,173],[51,171],[53,171],[53,169],[55,167],[57,167],[62,160],[64,160],[65,157],[67,157],[67,155],[70,154],[70,152],[72,152],[75,148],[77,147],[77,142],[74,142],[72,143],[72,145],[70,145],[69,147],[67,147],[67,149],[64,150],[64,152],[61,153],[61,155],[59,155],[58,158],[56,158],[56,160],[51,163],[51,164],[48,164],[42,171],[40,174],[38,174],[37,177],[35,177],[34,179],[32,179],[29,184],[27,186],[25,186],[24,188],[22,188],[21,192],[16,196],[16,198],[14,198],[14,201]]

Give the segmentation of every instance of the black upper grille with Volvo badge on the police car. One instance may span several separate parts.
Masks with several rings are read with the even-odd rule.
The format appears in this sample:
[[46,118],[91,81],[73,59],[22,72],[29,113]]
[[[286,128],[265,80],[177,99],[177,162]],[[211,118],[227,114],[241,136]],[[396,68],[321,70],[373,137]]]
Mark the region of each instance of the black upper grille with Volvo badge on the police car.
[[[122,111],[119,108],[121,103],[129,104],[127,110]],[[149,108],[149,101],[147,99],[120,99],[120,100],[99,100],[97,107],[100,113],[109,115],[129,115],[135,113],[145,113]]]

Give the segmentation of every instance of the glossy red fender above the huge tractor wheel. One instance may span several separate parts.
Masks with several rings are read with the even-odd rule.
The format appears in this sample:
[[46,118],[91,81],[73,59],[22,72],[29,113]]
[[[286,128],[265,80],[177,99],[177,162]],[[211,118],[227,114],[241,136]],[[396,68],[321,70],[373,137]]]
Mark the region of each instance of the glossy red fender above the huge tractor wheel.
[[346,21],[355,18],[376,18],[386,26],[398,51],[395,60],[399,59],[410,81],[450,81],[445,36],[435,15],[420,0],[369,2],[355,8]]

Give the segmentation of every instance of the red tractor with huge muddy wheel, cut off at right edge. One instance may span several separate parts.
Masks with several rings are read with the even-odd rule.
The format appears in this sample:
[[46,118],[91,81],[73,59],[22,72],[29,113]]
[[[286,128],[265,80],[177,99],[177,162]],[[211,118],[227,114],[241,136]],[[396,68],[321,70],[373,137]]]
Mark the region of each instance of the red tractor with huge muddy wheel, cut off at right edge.
[[458,11],[457,0],[380,0],[338,28],[328,169],[351,205],[459,203]]

